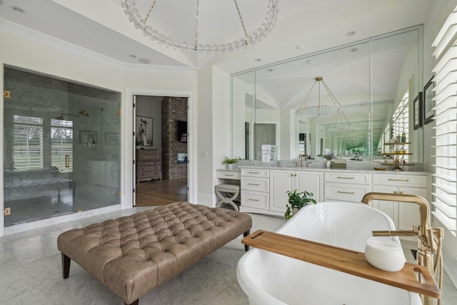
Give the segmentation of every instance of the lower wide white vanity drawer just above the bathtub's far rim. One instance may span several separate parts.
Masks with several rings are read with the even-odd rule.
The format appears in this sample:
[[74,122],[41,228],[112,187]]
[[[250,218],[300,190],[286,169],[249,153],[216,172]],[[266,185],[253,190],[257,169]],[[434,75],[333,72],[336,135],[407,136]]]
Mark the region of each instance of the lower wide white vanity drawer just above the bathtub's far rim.
[[338,184],[326,182],[324,185],[324,198],[328,200],[361,202],[363,195],[371,191],[369,185]]

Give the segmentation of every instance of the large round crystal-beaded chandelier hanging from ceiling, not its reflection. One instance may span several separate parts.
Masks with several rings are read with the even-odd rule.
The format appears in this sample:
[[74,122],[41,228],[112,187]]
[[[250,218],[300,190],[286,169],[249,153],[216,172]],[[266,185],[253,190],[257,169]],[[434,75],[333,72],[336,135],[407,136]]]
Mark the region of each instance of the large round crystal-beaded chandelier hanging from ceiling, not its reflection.
[[[246,46],[255,44],[258,41],[261,41],[263,37],[265,37],[275,24],[278,15],[278,0],[263,0],[265,2],[268,1],[267,11],[265,19],[263,23],[258,26],[257,29],[248,33],[246,30],[246,25],[243,20],[243,16],[241,15],[241,10],[238,7],[237,0],[233,0],[234,7],[233,9],[236,11],[236,15],[239,18],[240,24],[233,25],[239,27],[241,33],[243,33],[243,38],[238,39],[236,41],[229,41],[224,42],[221,44],[210,43],[209,41],[199,41],[199,11],[200,5],[199,0],[196,1],[196,15],[195,15],[195,34],[193,37],[193,41],[182,41],[181,39],[173,38],[167,34],[162,33],[159,31],[158,27],[152,26],[151,22],[148,21],[149,19],[154,19],[154,13],[156,14],[164,14],[163,12],[156,12],[155,6],[157,0],[149,0],[151,1],[151,6],[148,9],[141,10],[136,5],[135,2],[139,3],[140,0],[121,0],[121,5],[124,8],[125,14],[129,17],[129,21],[135,24],[136,29],[140,29],[143,31],[145,36],[149,36],[152,40],[157,41],[159,44],[165,44],[166,46],[171,46],[174,49],[181,49],[182,51],[199,51],[201,53],[219,53],[219,52],[226,52],[226,51],[233,51],[237,49],[244,49]],[[169,1],[169,0],[164,0]],[[186,4],[189,3],[189,0],[182,0]],[[212,1],[221,1],[221,0],[211,0]],[[238,0],[239,1],[239,0]],[[160,2],[160,1],[159,1]],[[164,2],[162,2],[164,3]],[[161,6],[164,7],[164,6]],[[174,6],[174,9],[178,10],[178,8],[184,7],[181,6]],[[159,10],[159,8],[157,8]],[[171,22],[174,21],[174,16],[168,16]],[[206,29],[207,31],[217,31],[217,25],[214,25],[214,29]]]

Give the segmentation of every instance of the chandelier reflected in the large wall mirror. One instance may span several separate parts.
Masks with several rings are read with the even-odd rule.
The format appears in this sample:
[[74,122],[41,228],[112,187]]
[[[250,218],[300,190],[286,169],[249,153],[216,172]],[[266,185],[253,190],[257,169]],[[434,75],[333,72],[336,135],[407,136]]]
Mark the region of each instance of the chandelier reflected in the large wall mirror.
[[[321,83],[323,84],[323,88],[326,89],[328,96],[330,97],[331,104],[322,104],[321,103]],[[318,95],[317,95],[317,104],[315,105],[308,105],[310,101],[309,97],[313,92],[313,89],[317,85]],[[338,114],[343,112],[343,106],[336,100],[336,97],[331,93],[330,89],[328,89],[327,84],[323,81],[322,76],[318,76],[315,78],[314,84],[311,87],[311,90],[306,94],[303,103],[301,104],[300,108],[297,110],[297,114],[300,116],[331,116],[333,114]]]

